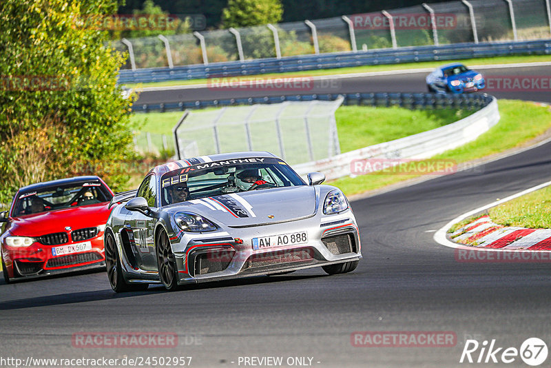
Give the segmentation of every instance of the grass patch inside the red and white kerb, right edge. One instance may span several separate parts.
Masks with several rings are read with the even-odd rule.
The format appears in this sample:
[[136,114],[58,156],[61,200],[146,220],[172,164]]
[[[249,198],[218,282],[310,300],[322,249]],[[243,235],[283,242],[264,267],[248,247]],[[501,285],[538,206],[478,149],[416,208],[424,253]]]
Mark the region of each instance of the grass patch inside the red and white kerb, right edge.
[[492,207],[488,214],[493,222],[503,226],[551,228],[551,187]]

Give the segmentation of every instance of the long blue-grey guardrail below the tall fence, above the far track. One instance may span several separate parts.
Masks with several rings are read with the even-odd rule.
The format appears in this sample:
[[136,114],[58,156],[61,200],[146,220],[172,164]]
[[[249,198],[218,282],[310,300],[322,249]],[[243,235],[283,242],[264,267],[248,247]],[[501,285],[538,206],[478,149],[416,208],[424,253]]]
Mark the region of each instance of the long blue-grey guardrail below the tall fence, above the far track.
[[397,49],[301,55],[297,57],[282,57],[281,59],[228,61],[209,63],[208,65],[175,66],[174,68],[120,70],[118,83],[207,79],[222,76],[302,72],[305,70],[346,68],[360,65],[475,59],[479,57],[499,57],[519,54],[551,54],[551,39],[523,42],[455,43],[452,45],[429,45]]

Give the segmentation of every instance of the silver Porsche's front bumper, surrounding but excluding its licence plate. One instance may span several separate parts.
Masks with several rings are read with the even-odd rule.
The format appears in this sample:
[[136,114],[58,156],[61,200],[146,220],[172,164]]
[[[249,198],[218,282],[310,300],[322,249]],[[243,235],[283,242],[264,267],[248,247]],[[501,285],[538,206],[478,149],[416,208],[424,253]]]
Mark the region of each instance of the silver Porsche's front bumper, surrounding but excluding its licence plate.
[[[275,274],[362,258],[360,234],[351,210],[344,214],[314,216],[283,224],[227,228],[216,234],[180,234],[172,248],[179,283],[197,283]],[[253,238],[306,232],[304,243],[253,249]]]

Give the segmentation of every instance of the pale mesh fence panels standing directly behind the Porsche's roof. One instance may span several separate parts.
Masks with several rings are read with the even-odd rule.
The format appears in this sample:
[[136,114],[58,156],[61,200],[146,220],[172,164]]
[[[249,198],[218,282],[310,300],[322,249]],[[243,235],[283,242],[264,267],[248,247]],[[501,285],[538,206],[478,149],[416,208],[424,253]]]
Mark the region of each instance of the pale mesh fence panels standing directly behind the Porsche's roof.
[[340,154],[335,101],[302,101],[186,111],[174,138],[180,158],[268,151],[290,164]]

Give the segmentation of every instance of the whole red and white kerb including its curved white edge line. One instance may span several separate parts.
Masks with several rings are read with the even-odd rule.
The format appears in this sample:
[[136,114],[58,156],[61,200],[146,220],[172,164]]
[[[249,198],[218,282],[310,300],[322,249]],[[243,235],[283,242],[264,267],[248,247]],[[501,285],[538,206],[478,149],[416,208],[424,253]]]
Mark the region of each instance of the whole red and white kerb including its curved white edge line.
[[[515,252],[551,252],[551,229],[526,229],[524,227],[504,227],[492,223],[489,216],[481,216],[477,220],[468,223],[461,229],[451,234],[454,241],[446,236],[450,227],[463,221],[465,218],[474,216],[488,208],[501,205],[514,198],[535,192],[543,187],[551,185],[551,181],[536,185],[522,192],[512,194],[488,205],[457,216],[452,221],[435,232],[434,240],[446,247],[455,249],[469,249],[486,252],[515,251]],[[457,243],[455,243],[457,242]]]

